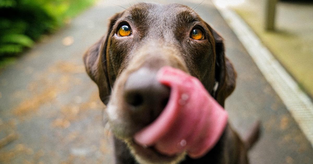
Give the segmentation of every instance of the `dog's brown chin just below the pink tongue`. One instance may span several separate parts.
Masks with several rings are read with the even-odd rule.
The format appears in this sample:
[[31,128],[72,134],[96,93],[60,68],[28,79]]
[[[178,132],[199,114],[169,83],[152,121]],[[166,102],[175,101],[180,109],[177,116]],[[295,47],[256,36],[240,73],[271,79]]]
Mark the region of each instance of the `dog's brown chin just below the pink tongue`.
[[125,140],[125,142],[136,161],[141,164],[177,164],[186,156],[186,152],[174,156],[167,156],[159,153],[153,147],[142,147],[141,145],[136,144],[133,140]]

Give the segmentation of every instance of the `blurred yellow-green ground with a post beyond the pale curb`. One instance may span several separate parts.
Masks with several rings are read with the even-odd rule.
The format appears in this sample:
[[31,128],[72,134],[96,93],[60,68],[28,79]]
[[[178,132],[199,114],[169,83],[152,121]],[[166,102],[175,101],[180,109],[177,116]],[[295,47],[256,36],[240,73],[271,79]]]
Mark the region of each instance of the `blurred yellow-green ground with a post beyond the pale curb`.
[[313,97],[313,1],[243,0],[229,5]]

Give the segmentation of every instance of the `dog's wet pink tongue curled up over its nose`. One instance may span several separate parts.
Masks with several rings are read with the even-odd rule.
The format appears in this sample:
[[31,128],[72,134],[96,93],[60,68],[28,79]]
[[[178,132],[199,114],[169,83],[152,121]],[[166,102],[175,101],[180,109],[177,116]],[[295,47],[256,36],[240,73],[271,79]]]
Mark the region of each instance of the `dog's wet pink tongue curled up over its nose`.
[[227,112],[197,78],[181,70],[165,66],[157,79],[171,87],[169,101],[154,122],[135,134],[135,141],[169,156],[182,151],[192,158],[205,155],[222,135]]

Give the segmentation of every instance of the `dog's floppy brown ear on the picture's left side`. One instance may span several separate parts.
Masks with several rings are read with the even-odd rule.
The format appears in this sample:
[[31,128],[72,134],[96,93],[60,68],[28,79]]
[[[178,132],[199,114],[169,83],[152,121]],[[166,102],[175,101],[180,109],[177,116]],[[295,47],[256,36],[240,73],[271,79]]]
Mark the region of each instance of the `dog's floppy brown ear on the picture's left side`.
[[89,77],[98,85],[100,99],[104,104],[108,103],[111,93],[111,84],[106,64],[106,48],[112,27],[121,15],[122,13],[116,13],[110,18],[107,34],[92,45],[83,56],[86,71]]

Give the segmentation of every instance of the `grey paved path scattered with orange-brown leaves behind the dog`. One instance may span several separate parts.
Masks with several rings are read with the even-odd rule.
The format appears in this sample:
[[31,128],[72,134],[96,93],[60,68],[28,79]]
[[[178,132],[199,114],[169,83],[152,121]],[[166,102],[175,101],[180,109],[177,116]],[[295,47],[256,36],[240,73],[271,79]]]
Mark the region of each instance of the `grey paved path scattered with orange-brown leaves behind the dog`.
[[[0,73],[0,163],[110,163],[101,122],[105,106],[81,58],[105,33],[107,19],[121,10],[100,2]],[[218,11],[211,3],[196,11],[223,35],[238,72],[226,101],[231,124],[244,135],[255,119],[262,120],[251,163],[312,163],[310,143]]]

